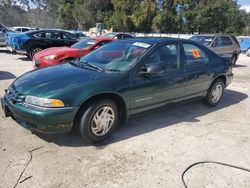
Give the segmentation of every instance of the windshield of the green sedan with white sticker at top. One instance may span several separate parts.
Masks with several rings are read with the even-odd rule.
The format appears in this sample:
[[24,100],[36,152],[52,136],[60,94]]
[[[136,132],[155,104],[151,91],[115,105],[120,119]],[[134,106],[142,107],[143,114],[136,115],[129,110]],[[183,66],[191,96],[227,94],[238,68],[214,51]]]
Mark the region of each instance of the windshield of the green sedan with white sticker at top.
[[88,63],[105,71],[124,72],[130,69],[151,47],[136,41],[116,41],[82,57],[78,63]]

